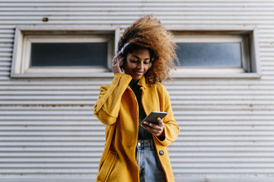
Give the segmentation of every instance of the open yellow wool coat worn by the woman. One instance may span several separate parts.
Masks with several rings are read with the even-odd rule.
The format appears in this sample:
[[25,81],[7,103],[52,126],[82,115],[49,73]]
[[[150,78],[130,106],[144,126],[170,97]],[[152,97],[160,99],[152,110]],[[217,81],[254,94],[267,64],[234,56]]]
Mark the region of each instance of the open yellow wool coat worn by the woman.
[[[129,82],[132,76],[114,74],[110,85],[102,85],[94,113],[105,126],[105,149],[99,164],[97,181],[137,182],[139,168],[135,158],[138,140],[138,102]],[[174,119],[169,93],[160,83],[148,87],[145,76],[139,80],[142,89],[142,105],[148,115],[151,111],[165,111],[164,140],[153,136],[155,148],[166,175],[166,181],[174,181],[167,146],[175,141],[179,127]]]

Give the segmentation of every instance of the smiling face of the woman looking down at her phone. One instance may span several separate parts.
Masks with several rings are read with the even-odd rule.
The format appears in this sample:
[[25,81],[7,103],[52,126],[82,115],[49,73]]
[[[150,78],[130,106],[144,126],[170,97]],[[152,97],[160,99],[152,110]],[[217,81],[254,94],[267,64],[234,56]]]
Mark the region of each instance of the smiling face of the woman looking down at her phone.
[[124,67],[125,74],[129,74],[133,79],[140,79],[149,70],[149,62],[149,50],[145,48],[128,52]]

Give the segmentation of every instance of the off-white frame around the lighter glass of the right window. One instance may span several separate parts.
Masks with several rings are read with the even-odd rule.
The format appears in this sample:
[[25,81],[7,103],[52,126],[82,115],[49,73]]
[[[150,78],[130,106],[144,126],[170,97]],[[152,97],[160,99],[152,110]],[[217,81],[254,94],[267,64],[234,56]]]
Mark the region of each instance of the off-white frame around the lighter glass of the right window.
[[260,78],[257,28],[253,26],[166,26],[175,42],[240,42],[243,69],[236,67],[180,67],[173,78]]

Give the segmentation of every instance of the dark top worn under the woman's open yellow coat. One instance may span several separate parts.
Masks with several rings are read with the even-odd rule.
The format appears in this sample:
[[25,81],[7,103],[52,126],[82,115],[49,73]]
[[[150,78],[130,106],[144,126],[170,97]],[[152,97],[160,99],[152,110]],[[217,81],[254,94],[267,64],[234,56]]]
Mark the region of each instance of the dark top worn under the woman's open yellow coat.
[[[140,85],[137,85],[139,80],[132,79],[129,82],[129,87],[132,88],[132,91],[134,91],[137,102],[138,102],[138,108],[139,108],[139,124],[147,115],[145,114],[145,110],[142,107],[142,90],[140,89]],[[147,132],[144,128],[139,126],[138,130],[138,139],[151,139],[151,133]]]

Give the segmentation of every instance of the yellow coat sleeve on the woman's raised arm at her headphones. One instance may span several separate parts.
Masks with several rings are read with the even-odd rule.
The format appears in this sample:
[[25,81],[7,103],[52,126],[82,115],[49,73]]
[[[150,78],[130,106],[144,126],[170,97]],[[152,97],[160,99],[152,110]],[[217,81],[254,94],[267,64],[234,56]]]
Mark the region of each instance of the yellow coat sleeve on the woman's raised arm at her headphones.
[[123,73],[114,74],[110,85],[102,85],[99,98],[95,103],[94,114],[105,125],[112,125],[119,115],[121,97],[127,89],[132,76]]

